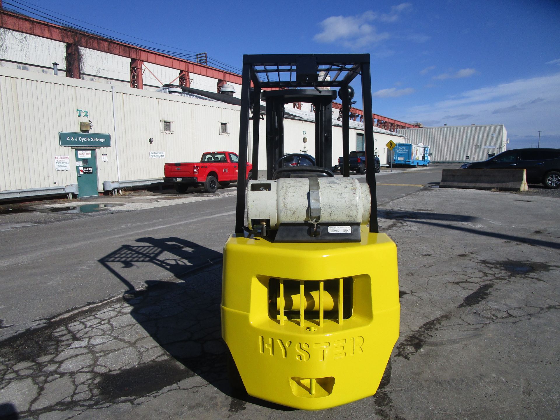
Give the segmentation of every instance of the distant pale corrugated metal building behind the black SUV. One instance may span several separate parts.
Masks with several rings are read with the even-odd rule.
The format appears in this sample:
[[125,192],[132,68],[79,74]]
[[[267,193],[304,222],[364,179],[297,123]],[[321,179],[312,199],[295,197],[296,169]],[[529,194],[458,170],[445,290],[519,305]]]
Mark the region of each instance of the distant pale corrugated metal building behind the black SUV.
[[400,129],[405,143],[423,143],[431,147],[434,161],[480,161],[488,153],[506,150],[507,132],[504,125],[460,125]]

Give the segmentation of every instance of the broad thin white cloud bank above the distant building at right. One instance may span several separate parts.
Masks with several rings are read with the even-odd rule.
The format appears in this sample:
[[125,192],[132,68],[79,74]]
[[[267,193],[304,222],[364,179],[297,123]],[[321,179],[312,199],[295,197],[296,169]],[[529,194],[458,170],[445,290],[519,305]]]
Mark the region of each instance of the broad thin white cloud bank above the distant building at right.
[[469,90],[444,101],[414,106],[402,119],[441,124],[455,121],[461,125],[505,124],[508,136],[530,136],[540,129],[560,134],[558,109],[560,72]]

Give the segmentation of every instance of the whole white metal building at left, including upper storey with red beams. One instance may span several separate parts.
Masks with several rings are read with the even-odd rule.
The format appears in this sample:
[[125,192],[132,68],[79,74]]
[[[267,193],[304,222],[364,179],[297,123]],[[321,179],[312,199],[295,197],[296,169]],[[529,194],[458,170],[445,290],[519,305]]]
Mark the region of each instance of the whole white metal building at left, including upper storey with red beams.
[[[34,189],[74,188],[83,183],[80,170],[95,171],[93,193],[103,191],[104,181],[149,184],[163,178],[165,162],[198,161],[212,150],[237,152],[240,108],[216,95],[227,83],[240,98],[239,74],[5,10],[0,24],[0,198],[18,190],[25,196]],[[167,84],[202,94],[170,94]],[[285,109],[284,152],[314,155],[315,113],[301,104]],[[342,155],[338,116],[333,109],[333,166]],[[265,127],[260,124],[261,139]],[[363,150],[363,124],[351,120],[349,127],[350,150]],[[62,132],[102,137],[106,146],[61,146]],[[382,164],[391,139],[399,143],[404,136],[374,127]],[[265,170],[264,147],[260,153],[259,170]]]

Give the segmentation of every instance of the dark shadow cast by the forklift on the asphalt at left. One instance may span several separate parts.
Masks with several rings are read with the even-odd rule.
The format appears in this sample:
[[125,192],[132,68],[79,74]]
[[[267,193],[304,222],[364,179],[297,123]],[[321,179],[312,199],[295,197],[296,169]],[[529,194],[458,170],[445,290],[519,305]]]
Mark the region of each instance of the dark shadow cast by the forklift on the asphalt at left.
[[[142,237],[136,241],[138,245],[123,245],[99,259],[99,263],[127,287],[123,298],[132,306],[130,315],[184,368],[176,365],[176,371],[170,372],[168,362],[161,362],[161,366],[151,363],[150,367],[141,364],[108,375],[107,383],[102,383],[101,388],[113,396],[119,396],[123,389],[135,388],[148,394],[197,375],[232,398],[273,409],[293,410],[230,389],[228,350],[221,337],[220,322],[222,253],[178,237]],[[137,290],[132,276],[138,265],[146,263],[166,269],[179,281],[149,280],[146,288]],[[123,274],[127,270],[130,274]],[[154,381],[164,370],[165,377]],[[151,381],[154,389],[146,388],[145,383],[134,383],[139,381]],[[126,395],[124,391],[121,396]]]

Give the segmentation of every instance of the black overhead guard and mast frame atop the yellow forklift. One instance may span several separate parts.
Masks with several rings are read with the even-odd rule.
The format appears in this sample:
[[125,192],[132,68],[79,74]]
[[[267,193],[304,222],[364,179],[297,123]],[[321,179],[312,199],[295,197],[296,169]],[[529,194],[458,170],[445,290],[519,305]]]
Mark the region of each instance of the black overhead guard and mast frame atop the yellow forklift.
[[[318,166],[332,167],[332,101],[334,88],[342,100],[342,146],[344,177],[349,176],[350,83],[361,76],[366,162],[374,165],[374,131],[371,106],[369,54],[258,54],[243,56],[241,118],[239,127],[239,172],[235,232],[245,225],[245,179],[249,120],[253,120],[253,173],[258,179],[260,100],[264,99],[267,117],[267,179],[272,179],[273,164],[283,156],[284,104],[311,102],[315,105],[315,158]],[[251,87],[253,85],[253,87]],[[311,89],[305,89],[311,88]],[[252,116],[250,111],[252,110]],[[370,232],[377,232],[375,171],[366,172],[371,195]]]

